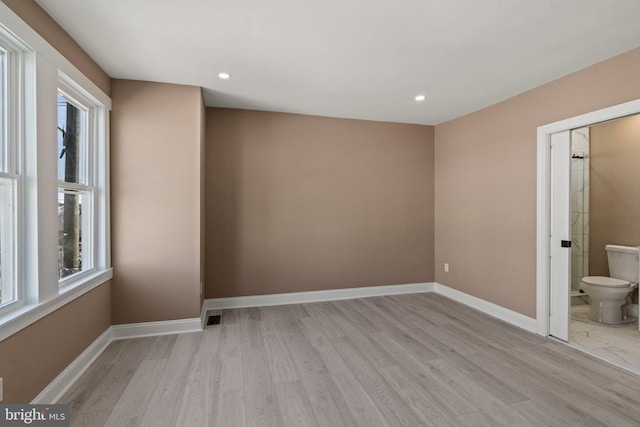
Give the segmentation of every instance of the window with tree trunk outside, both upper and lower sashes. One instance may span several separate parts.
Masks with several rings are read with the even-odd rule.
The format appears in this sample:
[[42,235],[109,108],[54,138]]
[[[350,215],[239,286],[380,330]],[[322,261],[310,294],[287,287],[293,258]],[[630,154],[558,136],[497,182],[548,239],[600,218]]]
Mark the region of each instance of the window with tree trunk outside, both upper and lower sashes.
[[70,89],[58,93],[58,279],[94,266],[92,111]]

